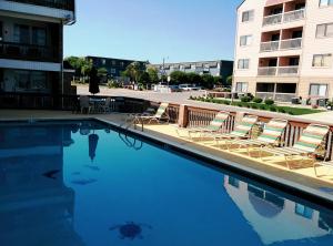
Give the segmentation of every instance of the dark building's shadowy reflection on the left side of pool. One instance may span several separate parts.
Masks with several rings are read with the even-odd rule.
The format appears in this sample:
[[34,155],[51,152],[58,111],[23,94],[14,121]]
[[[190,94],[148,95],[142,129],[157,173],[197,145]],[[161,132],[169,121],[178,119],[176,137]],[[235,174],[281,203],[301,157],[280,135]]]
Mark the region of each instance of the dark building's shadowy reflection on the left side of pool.
[[83,246],[73,228],[74,192],[63,148],[78,125],[0,127],[1,246]]

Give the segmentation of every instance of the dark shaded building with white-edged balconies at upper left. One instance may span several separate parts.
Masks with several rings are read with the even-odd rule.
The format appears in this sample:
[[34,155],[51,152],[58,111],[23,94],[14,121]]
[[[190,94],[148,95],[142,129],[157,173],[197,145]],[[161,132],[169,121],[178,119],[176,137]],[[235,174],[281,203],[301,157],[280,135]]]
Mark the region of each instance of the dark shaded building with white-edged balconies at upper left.
[[74,0],[0,0],[2,99],[6,94],[10,99],[31,95],[26,102],[29,104],[33,95],[54,99],[67,93],[62,74],[63,25],[74,21]]

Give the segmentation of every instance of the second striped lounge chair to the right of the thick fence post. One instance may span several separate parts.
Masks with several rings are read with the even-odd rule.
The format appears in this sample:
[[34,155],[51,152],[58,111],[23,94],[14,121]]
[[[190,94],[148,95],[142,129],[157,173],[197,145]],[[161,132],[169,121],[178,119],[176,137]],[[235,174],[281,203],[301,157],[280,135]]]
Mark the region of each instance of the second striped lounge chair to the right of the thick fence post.
[[[221,146],[221,141],[228,145],[228,141],[231,140],[241,140],[241,139],[250,139],[252,134],[252,130],[254,125],[258,123],[258,116],[255,115],[245,115],[242,121],[235,126],[234,131],[231,133],[224,134],[212,134],[211,136],[215,141],[215,145]],[[229,145],[228,145],[229,146]]]

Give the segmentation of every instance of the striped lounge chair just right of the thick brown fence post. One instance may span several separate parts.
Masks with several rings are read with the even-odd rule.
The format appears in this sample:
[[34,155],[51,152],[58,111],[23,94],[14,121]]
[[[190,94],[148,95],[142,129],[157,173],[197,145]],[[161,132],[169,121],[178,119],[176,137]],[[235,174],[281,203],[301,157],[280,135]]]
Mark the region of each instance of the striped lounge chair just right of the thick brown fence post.
[[224,111],[220,111],[213,121],[211,121],[211,123],[208,126],[203,126],[203,127],[188,127],[188,129],[180,129],[178,127],[175,130],[176,134],[182,137],[182,135],[180,134],[180,132],[185,131],[188,133],[188,136],[193,140],[193,134],[199,134],[200,137],[203,137],[203,134],[213,134],[213,133],[218,133],[228,122],[228,120],[230,119],[230,113],[229,112],[224,112]]

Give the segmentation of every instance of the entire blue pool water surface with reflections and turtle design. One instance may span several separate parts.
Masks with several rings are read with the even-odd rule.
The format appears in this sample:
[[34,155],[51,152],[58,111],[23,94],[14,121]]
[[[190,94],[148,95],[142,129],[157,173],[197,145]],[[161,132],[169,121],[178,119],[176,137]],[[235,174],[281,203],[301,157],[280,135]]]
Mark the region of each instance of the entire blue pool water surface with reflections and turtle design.
[[1,246],[332,246],[332,211],[97,122],[0,125]]

